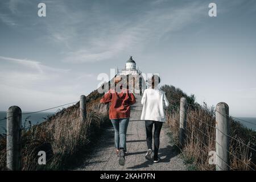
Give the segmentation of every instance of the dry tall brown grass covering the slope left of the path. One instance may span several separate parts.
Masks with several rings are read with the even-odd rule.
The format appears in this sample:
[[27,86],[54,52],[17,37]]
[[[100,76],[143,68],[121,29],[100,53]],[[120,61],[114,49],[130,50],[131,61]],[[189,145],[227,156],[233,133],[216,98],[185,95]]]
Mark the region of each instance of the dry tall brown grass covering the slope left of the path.
[[[94,100],[95,99],[95,100]],[[57,112],[46,122],[22,131],[22,169],[64,169],[76,152],[88,146],[102,124],[108,121],[108,105],[99,102],[100,95],[88,97],[86,121],[82,122],[79,103]],[[6,169],[6,138],[0,139],[0,169]],[[38,164],[38,152],[46,151],[47,164]]]

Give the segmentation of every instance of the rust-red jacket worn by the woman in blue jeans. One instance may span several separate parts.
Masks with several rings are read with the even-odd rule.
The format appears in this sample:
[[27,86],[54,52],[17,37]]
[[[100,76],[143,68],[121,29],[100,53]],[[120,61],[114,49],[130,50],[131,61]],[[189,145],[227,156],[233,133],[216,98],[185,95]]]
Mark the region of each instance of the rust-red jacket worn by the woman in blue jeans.
[[119,119],[130,117],[130,105],[134,104],[136,100],[133,93],[129,93],[127,89],[122,89],[120,93],[109,90],[100,102],[105,104],[111,102],[109,119]]

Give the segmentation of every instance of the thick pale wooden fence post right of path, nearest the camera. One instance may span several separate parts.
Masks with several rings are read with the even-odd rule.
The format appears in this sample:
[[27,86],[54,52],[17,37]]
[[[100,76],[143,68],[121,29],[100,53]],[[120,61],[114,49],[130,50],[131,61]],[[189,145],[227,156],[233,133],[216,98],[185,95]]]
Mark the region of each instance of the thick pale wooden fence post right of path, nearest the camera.
[[225,102],[216,105],[216,170],[229,170],[229,106]]

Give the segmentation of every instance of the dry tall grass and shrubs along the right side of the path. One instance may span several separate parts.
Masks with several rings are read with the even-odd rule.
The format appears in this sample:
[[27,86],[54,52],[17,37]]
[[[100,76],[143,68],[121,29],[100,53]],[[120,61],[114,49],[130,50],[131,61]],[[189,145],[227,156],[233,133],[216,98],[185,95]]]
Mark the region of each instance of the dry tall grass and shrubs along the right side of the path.
[[[206,104],[196,104],[194,96],[187,96],[174,86],[163,86],[171,105],[167,112],[167,123],[172,131],[172,137],[178,145],[179,138],[179,100],[187,97],[187,130],[185,146],[182,155],[186,163],[192,164],[194,170],[214,170],[214,165],[209,164],[209,151],[215,151],[215,111]],[[246,129],[241,123],[229,118],[230,122],[230,147],[229,159],[232,170],[256,169],[255,152],[256,133]],[[242,144],[243,143],[243,144]],[[246,144],[246,145],[245,145]]]

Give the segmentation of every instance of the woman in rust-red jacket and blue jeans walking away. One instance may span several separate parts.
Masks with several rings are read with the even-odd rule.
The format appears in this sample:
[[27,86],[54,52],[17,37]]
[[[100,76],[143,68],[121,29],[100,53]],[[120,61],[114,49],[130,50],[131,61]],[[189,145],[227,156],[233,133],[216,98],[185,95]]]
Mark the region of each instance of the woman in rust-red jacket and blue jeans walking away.
[[[115,85],[122,80],[122,77],[115,77]],[[130,118],[130,105],[136,102],[134,94],[129,93],[129,90],[122,88],[118,92],[115,89],[110,89],[105,96],[100,100],[101,103],[111,103],[109,108],[109,119],[115,130],[115,149],[119,155],[119,164],[125,165],[126,150],[126,132]]]

